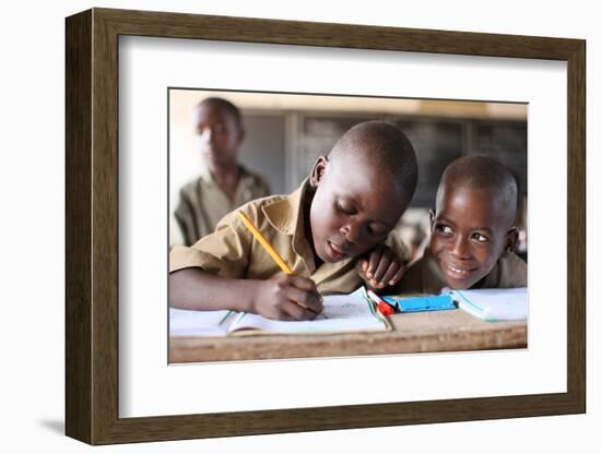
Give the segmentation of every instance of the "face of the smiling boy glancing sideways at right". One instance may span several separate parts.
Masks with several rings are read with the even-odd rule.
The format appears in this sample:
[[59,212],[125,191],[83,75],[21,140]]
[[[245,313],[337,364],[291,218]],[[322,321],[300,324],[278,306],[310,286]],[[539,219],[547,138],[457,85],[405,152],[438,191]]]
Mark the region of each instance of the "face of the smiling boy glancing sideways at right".
[[450,184],[432,213],[429,252],[450,288],[470,288],[484,278],[517,231],[507,228],[503,198],[490,189],[453,189]]

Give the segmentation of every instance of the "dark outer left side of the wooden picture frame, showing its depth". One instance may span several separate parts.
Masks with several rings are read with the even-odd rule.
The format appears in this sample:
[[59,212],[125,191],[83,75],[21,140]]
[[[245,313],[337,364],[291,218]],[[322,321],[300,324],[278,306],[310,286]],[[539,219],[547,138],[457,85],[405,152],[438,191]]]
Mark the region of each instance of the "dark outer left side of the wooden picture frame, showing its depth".
[[92,14],[67,21],[66,433],[92,441]]

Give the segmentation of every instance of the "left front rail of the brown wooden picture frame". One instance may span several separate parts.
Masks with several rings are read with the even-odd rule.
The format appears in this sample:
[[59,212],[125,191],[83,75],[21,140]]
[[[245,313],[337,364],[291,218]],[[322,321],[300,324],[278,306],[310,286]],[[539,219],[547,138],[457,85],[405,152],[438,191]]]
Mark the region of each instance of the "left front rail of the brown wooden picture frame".
[[92,330],[93,443],[118,417],[118,35],[93,10]]

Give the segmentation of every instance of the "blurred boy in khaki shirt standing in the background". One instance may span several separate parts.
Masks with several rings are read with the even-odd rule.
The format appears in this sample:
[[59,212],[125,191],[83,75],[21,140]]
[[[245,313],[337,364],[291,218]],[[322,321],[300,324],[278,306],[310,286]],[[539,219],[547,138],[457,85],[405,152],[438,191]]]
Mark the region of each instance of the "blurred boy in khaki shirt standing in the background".
[[210,97],[195,108],[193,119],[197,150],[205,168],[181,188],[174,212],[180,234],[177,242],[186,246],[212,232],[234,208],[271,193],[261,176],[238,163],[245,131],[236,106]]

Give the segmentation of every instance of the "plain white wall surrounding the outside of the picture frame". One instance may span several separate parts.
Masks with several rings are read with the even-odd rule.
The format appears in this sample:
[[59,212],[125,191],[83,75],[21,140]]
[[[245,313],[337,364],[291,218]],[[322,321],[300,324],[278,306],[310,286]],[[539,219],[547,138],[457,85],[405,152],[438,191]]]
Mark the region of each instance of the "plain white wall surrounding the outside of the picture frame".
[[[56,1],[7,3],[2,10],[2,375],[1,432],[4,452],[79,453],[91,447],[64,438],[63,425],[63,211],[64,211],[64,25],[63,17],[91,7],[130,8],[320,22],[347,22],[472,32],[494,32],[587,39],[588,106],[588,415],[521,420],[414,426],[370,430],[300,433],[240,439],[184,441],[95,449],[95,452],[280,452],[339,450],[349,453],[408,452],[584,452],[599,450],[601,401],[593,380],[593,300],[599,296],[600,230],[593,200],[601,171],[592,151],[594,112],[601,107],[596,67],[601,31],[594,2],[508,0],[428,2],[276,2]],[[491,11],[491,8],[494,11]],[[8,103],[7,103],[8,101]],[[597,216],[597,219],[593,217]],[[597,273],[594,273],[597,271]],[[599,298],[597,298],[599,299]],[[597,380],[598,381],[598,380]]]

